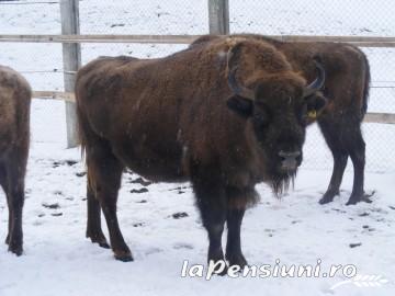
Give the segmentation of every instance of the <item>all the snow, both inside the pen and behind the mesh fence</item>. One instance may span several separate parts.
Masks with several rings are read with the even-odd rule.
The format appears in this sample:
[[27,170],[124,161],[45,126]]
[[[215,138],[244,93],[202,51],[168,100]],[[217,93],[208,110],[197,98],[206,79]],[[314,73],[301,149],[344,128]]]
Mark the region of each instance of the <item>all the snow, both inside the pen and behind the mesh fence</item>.
[[[29,1],[27,1],[29,2]],[[234,0],[233,32],[266,34],[395,34],[395,7],[390,0]],[[296,3],[297,2],[297,3]],[[81,32],[106,34],[204,34],[205,0],[80,1]],[[60,33],[58,4],[1,4],[0,34]],[[82,47],[83,62],[98,55],[158,57],[183,45],[101,45]],[[364,48],[374,86],[393,86],[395,53]],[[2,44],[0,64],[22,71],[36,90],[63,89],[61,46]],[[373,89],[372,112],[395,112],[394,89]],[[330,179],[331,156],[317,130],[308,130],[305,161],[295,190],[281,201],[259,185],[261,202],[247,212],[244,251],[250,264],[354,264],[362,275],[382,275],[382,287],[345,278],[182,278],[183,260],[205,263],[207,239],[193,194],[187,184],[151,184],[145,193],[125,173],[120,193],[120,224],[135,262],[121,263],[111,251],[84,238],[84,167],[78,149],[65,149],[63,102],[34,100],[32,149],[26,179],[24,248],[21,258],[7,252],[8,210],[0,192],[0,296],[14,295],[393,295],[395,291],[395,127],[364,124],[368,144],[365,189],[372,204],[345,206],[352,185],[348,168],[341,195],[320,206],[317,201]],[[48,208],[55,205],[56,208]],[[57,206],[56,206],[57,205]],[[176,213],[187,217],[176,219]],[[105,225],[103,229],[106,230]],[[350,243],[361,243],[350,248]]]

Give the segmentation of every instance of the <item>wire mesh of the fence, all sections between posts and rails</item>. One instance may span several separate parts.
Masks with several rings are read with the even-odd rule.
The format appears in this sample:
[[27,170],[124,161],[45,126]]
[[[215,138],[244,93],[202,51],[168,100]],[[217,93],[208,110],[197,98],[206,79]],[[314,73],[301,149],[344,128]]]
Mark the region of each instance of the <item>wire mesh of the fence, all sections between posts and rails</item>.
[[[395,36],[394,13],[391,0],[229,0],[229,29],[264,35]],[[207,0],[80,0],[79,14],[81,34],[208,33]],[[0,33],[60,34],[59,1],[0,0]],[[155,58],[187,46],[82,43],[81,56],[82,64],[101,55]],[[369,111],[395,113],[395,48],[362,50],[372,71]],[[0,64],[22,72],[33,89],[64,90],[61,44],[0,43]],[[33,141],[65,140],[64,130],[49,130],[65,128],[52,122],[64,116],[63,103],[35,101],[33,113]],[[364,124],[363,133],[368,170],[395,170],[395,126]],[[304,166],[331,168],[330,151],[316,126],[308,128]]]

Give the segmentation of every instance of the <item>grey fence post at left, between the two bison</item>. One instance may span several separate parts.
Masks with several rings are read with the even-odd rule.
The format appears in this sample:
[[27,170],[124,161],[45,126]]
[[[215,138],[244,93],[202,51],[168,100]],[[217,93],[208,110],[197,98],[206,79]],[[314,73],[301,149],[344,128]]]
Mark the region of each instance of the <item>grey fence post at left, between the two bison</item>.
[[[79,0],[60,1],[61,34],[79,34]],[[81,66],[79,43],[63,43],[65,91],[74,92],[76,71]],[[66,102],[67,148],[78,145],[76,103]]]

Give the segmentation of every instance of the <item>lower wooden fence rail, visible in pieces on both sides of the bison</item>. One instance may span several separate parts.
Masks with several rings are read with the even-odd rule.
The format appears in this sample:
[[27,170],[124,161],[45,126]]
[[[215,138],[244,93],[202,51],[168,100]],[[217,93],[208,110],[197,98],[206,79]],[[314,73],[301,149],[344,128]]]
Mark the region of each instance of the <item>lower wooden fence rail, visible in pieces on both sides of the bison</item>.
[[[76,98],[72,92],[61,91],[34,91],[33,98],[44,100],[63,100],[75,102]],[[364,117],[365,123],[395,124],[395,114],[393,113],[368,113]]]

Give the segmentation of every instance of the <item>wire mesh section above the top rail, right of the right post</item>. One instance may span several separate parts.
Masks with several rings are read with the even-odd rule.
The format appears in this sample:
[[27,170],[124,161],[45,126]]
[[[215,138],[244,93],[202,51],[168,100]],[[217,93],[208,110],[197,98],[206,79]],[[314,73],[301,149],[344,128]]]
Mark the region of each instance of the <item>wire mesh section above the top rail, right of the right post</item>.
[[391,0],[230,0],[232,32],[270,35],[394,36]]

